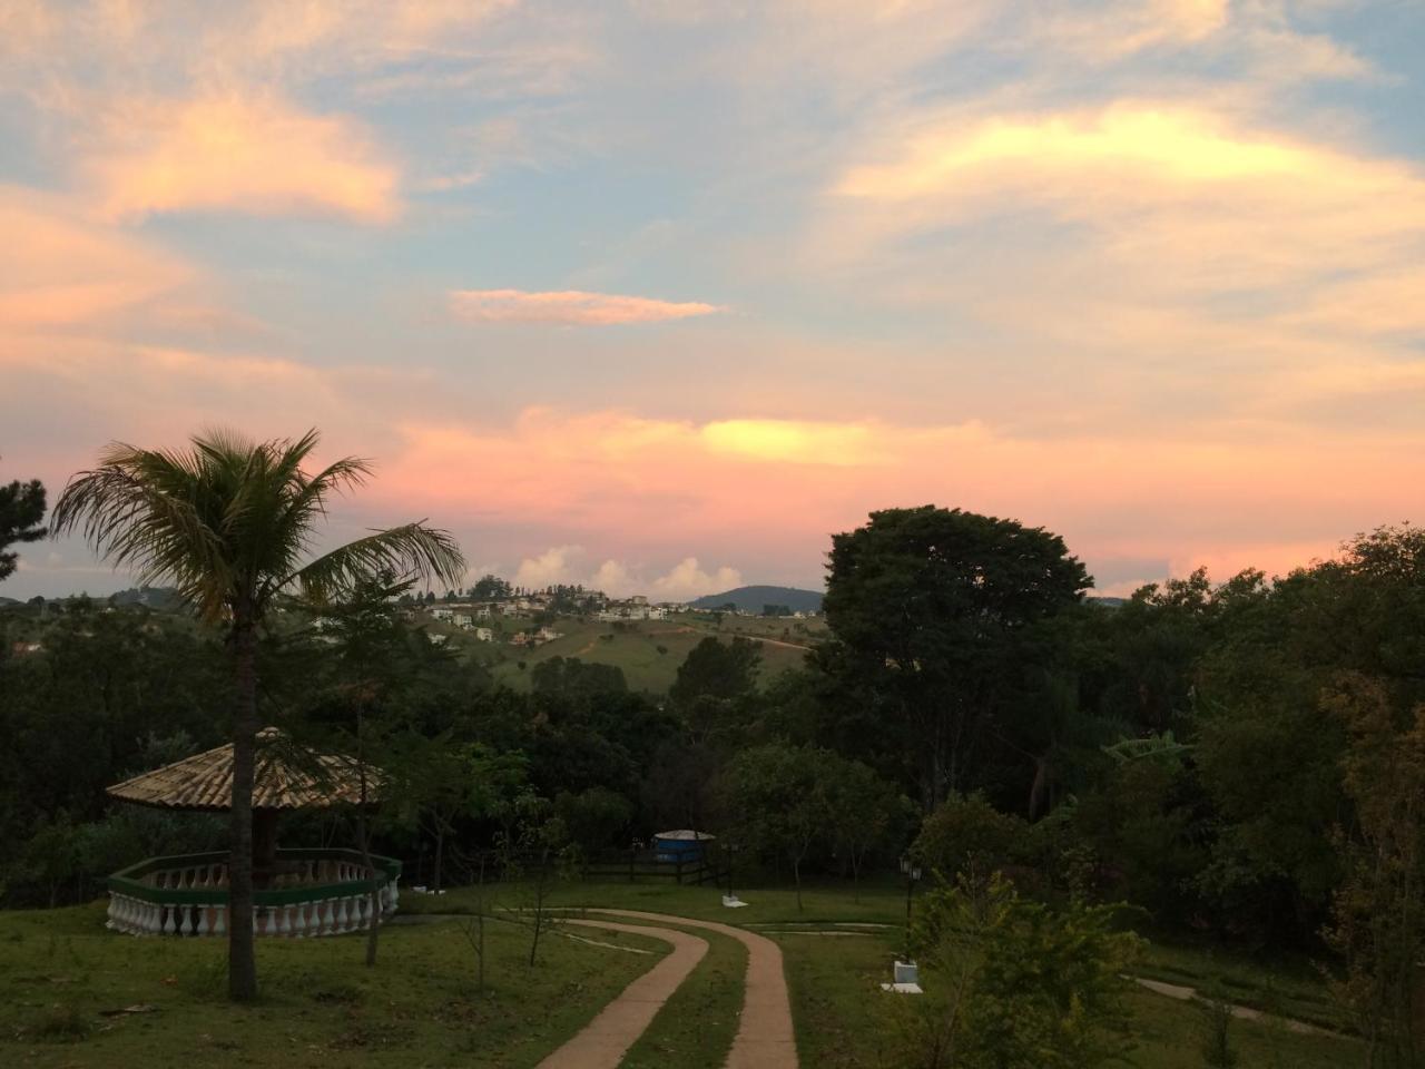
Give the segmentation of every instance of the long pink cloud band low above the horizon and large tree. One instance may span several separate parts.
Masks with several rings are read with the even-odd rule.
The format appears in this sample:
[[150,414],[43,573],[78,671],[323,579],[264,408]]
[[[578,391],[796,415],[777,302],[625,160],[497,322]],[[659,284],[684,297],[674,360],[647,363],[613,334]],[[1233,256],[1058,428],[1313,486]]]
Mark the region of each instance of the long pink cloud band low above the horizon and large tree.
[[[722,567],[703,570],[687,557],[717,553],[757,560],[764,574],[807,576],[832,532],[872,509],[925,502],[1046,525],[1119,574],[1130,566],[1141,574],[1144,560],[1170,562],[1174,572],[1194,560],[1224,572],[1285,570],[1301,553],[1328,553],[1351,532],[1395,516],[1398,487],[1425,479],[1414,429],[1337,435],[1244,420],[1180,433],[1094,428],[1029,438],[976,422],[862,420],[838,426],[869,445],[868,462],[838,465],[750,462],[710,445],[705,426],[547,409],[506,428],[409,425],[372,493],[399,502],[392,512],[419,502],[422,513],[456,529],[472,525],[486,540],[494,532],[527,540],[532,517],[546,532],[577,536],[532,559],[540,577],[587,574],[574,544],[618,562],[586,580],[594,586],[637,580],[623,562],[681,550],[683,563],[646,584],[671,599],[737,586]],[[476,469],[483,475],[472,495],[463,476]]]

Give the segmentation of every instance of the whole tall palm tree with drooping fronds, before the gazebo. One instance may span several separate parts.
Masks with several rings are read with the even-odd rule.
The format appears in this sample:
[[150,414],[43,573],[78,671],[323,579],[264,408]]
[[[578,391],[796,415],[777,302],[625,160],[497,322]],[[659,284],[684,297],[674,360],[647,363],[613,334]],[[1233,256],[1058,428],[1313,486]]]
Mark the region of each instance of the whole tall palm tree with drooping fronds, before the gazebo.
[[192,438],[184,450],[111,443],[98,468],[80,472],[54,506],[56,534],[81,530],[94,552],[141,583],[175,586],[198,616],[227,631],[232,653],[232,919],[228,992],[256,996],[252,946],[252,775],[256,757],[256,633],[275,600],[295,592],[328,601],[365,576],[456,584],[465,557],[455,539],[425,522],[380,530],[311,557],[333,493],[366,482],[368,460],[346,458],[316,475],[302,463],[318,432],[295,442],[251,442],[228,430]]

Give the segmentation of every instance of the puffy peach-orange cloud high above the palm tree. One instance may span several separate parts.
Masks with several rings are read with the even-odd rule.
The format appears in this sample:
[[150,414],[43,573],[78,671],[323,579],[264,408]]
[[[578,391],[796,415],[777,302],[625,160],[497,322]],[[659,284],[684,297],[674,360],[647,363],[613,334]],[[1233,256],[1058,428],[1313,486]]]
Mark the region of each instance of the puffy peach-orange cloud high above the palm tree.
[[400,211],[395,165],[353,121],[275,95],[155,101],[111,125],[113,144],[87,165],[110,218],[239,211],[389,222]]

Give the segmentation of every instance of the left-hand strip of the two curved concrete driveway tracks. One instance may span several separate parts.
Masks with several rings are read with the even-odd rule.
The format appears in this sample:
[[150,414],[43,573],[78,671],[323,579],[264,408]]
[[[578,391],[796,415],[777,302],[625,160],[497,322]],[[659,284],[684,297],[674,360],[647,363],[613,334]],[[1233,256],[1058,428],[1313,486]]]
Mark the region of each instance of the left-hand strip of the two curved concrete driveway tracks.
[[579,1035],[539,1063],[539,1069],[617,1069],[628,1048],[663,1009],[663,1003],[703,961],[703,955],[708,952],[708,941],[671,928],[614,921],[570,919],[566,924],[651,935],[673,944],[673,954],[624,988]]

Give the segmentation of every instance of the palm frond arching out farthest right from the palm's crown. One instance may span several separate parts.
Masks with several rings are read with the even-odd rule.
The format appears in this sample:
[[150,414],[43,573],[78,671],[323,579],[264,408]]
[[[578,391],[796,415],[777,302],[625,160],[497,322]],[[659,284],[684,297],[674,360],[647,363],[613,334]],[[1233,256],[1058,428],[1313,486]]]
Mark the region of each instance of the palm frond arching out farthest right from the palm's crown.
[[326,553],[284,579],[304,597],[323,603],[349,593],[363,577],[383,572],[400,579],[436,579],[456,586],[465,577],[465,554],[449,532],[425,520],[379,530]]

